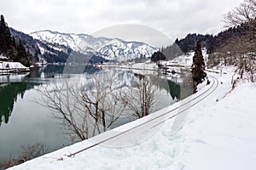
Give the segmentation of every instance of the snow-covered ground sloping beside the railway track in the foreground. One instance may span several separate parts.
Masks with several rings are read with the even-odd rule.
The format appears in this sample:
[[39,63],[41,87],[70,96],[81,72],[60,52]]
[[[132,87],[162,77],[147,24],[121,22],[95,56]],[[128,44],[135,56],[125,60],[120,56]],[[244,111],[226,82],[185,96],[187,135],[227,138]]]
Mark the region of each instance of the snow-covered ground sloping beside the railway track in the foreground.
[[256,169],[256,85],[239,82],[230,92],[231,70],[209,73],[218,78],[218,88],[189,109],[177,133],[174,117],[129,147],[104,144],[66,156],[87,146],[86,140],[10,169]]

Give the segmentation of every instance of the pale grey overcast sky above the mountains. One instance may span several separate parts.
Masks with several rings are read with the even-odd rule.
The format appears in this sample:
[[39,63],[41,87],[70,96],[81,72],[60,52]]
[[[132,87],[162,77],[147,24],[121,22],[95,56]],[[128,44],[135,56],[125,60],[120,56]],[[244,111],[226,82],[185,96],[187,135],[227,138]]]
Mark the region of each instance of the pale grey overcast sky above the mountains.
[[242,0],[3,0],[0,13],[16,30],[91,34],[104,27],[137,24],[167,37],[217,33],[223,15]]

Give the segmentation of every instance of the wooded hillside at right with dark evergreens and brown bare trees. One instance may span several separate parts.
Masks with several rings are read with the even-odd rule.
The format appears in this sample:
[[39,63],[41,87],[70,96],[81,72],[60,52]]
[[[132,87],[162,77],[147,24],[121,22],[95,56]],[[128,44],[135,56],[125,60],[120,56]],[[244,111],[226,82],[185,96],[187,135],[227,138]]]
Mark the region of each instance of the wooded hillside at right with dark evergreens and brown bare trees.
[[227,29],[216,36],[189,34],[175,42],[183,53],[192,51],[195,42],[201,42],[202,48],[207,48],[209,59],[207,66],[235,65],[242,78],[244,73],[255,81],[256,72],[256,1],[246,0],[224,16]]

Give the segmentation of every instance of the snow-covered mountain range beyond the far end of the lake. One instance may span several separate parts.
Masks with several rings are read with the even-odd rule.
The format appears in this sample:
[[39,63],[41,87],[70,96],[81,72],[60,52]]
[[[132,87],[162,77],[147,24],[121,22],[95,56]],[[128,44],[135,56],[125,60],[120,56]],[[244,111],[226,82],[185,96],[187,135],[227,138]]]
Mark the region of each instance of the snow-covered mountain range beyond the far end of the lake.
[[[92,37],[87,34],[67,34],[57,31],[35,31],[30,34],[42,42],[58,43],[82,54],[96,54],[109,60],[125,61],[141,56],[151,57],[157,48],[143,42],[125,42],[105,37]],[[40,48],[41,53],[44,49]]]

